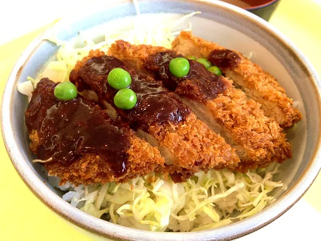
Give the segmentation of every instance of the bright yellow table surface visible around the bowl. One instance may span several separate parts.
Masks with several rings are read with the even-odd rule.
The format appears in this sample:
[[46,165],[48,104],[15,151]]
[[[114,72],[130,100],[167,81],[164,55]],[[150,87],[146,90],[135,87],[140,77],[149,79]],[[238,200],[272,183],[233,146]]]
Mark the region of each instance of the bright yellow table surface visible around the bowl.
[[[311,61],[321,76],[321,5],[314,0],[283,0],[271,19]],[[0,97],[15,62],[45,28],[0,46]],[[0,137],[0,240],[92,240],[39,201],[16,173]],[[304,199],[321,212],[321,174]]]

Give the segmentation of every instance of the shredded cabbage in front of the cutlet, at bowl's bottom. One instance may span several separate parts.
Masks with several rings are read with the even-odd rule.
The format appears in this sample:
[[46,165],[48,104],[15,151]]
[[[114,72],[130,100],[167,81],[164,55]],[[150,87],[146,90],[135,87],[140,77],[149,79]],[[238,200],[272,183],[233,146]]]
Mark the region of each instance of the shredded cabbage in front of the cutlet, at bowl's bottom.
[[[75,206],[95,217],[106,214],[104,219],[128,227],[152,231],[211,229],[254,215],[272,203],[275,199],[269,193],[283,186],[281,181],[273,181],[278,167],[272,164],[247,173],[199,172],[185,183],[159,177],[149,183],[150,174],[128,183],[82,186],[77,191],[70,186],[63,198],[72,202],[81,193]],[[91,191],[86,192],[86,188]]]

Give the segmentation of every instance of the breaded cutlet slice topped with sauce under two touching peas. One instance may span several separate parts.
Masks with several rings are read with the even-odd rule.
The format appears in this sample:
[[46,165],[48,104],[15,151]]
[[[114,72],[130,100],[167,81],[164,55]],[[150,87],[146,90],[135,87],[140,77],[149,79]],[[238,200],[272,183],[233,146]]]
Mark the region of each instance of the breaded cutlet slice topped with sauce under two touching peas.
[[[122,68],[131,76],[130,88],[137,95],[137,104],[129,110],[117,108],[113,99],[117,90],[107,82],[109,72]],[[213,132],[162,82],[139,75],[119,59],[100,51],[91,51],[78,61],[70,74],[78,90],[96,92],[99,101],[107,101],[129,122],[137,135],[156,146],[166,159],[166,168],[174,181],[184,181],[200,170],[233,168],[239,162],[235,150]]]

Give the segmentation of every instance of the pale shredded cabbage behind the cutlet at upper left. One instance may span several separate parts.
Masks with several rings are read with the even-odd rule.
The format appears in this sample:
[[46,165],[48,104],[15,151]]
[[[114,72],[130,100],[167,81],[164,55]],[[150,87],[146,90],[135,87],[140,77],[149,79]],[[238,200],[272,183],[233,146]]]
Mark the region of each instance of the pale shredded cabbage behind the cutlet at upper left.
[[[50,61],[36,79],[29,77],[26,82],[18,84],[18,91],[22,94],[31,96],[36,84],[44,77],[47,77],[55,82],[69,81],[70,72],[78,60],[87,56],[89,51],[92,49],[100,49],[104,52],[107,52],[108,48],[112,43],[115,42],[115,40],[122,39],[132,44],[149,44],[171,48],[171,43],[174,40],[174,37],[180,33],[180,31],[172,32],[172,29],[185,21],[187,18],[201,13],[190,13],[180,18],[177,22],[170,26],[158,21],[150,21],[146,23],[139,18],[140,14],[137,1],[133,0],[133,2],[137,11],[137,19],[135,20],[134,28],[119,32],[107,31],[107,34],[104,35],[104,41],[100,43],[95,44],[92,38],[85,35],[82,31],[79,31],[79,39],[83,40],[85,46],[81,48],[74,48],[74,43],[61,41],[57,39],[54,33],[50,31],[47,32],[47,35],[44,38],[55,43],[57,46],[60,46],[58,53],[56,54],[57,60]],[[188,23],[188,27],[184,30],[192,30],[191,23]],[[30,88],[31,83],[33,88]]]

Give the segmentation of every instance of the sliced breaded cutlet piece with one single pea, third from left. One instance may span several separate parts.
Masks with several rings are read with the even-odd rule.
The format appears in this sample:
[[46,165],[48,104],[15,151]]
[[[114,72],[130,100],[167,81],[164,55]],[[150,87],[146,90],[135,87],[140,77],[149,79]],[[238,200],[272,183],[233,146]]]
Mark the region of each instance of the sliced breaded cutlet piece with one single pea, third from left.
[[281,128],[264,115],[260,104],[248,99],[232,81],[208,71],[203,64],[189,60],[187,76],[177,78],[169,71],[169,62],[184,57],[173,50],[147,45],[131,45],[119,40],[109,54],[131,64],[138,71],[162,80],[175,91],[202,121],[236,149],[241,163],[236,170],[246,171],[291,157],[291,145]]

